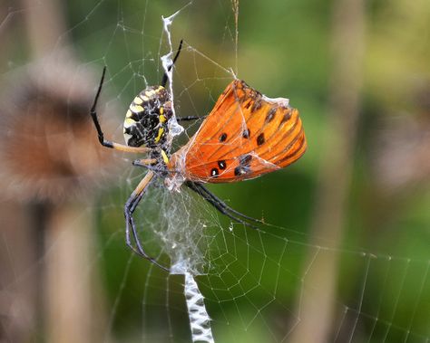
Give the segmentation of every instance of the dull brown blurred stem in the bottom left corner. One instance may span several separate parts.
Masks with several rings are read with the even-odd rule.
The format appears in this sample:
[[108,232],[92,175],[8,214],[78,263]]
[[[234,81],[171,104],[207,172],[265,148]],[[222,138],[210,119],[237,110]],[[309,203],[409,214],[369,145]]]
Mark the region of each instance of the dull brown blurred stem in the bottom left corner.
[[42,301],[38,242],[27,206],[0,200],[0,342],[30,342]]

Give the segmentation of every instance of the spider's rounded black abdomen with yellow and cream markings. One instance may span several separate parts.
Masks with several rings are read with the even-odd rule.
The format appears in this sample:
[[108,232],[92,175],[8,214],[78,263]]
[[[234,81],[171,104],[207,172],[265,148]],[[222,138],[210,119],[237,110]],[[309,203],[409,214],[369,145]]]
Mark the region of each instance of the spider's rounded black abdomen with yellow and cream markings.
[[172,113],[171,96],[164,87],[152,86],[141,91],[125,115],[125,143],[130,147],[162,146]]

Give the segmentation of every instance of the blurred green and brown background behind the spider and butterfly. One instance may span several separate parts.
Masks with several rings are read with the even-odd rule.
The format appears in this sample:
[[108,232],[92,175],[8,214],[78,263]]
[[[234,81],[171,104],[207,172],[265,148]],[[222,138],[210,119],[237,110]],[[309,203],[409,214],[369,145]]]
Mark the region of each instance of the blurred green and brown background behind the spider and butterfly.
[[122,142],[127,107],[181,39],[179,116],[207,114],[237,75],[289,98],[308,138],[285,170],[210,186],[264,218],[259,231],[162,184],[136,214],[162,262],[191,237],[215,341],[427,342],[427,0],[4,0],[0,341],[191,342],[183,277],[125,246],[143,171],[99,147],[89,120],[106,65],[99,117]]

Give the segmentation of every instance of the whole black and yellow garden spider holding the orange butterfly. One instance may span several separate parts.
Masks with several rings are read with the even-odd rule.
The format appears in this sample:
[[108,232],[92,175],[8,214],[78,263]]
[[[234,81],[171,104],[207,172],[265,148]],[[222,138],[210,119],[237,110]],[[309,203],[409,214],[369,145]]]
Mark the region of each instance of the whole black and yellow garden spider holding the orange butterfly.
[[[106,73],[106,67],[103,68],[102,78],[95,94],[93,106],[90,110],[91,117],[95,129],[97,130],[98,138],[103,147],[113,148],[123,152],[130,153],[144,153],[148,154],[147,158],[136,159],[132,162],[133,166],[147,167],[148,172],[142,178],[139,185],[134,189],[132,195],[127,200],[124,206],[124,216],[125,216],[125,241],[127,245],[132,249],[133,252],[141,255],[143,258],[151,261],[161,269],[170,272],[170,269],[161,265],[154,258],[145,252],[142,248],[142,243],[139,239],[139,235],[136,231],[136,225],[132,217],[137,205],[139,205],[142,200],[142,196],[151,185],[151,181],[154,177],[164,177],[171,174],[180,173],[175,167],[169,166],[171,158],[171,139],[168,139],[169,135],[169,123],[173,119],[173,111],[171,103],[171,95],[165,89],[166,83],[168,81],[167,72],[171,71],[173,64],[178,59],[181,52],[182,41],[179,45],[178,51],[176,52],[171,65],[168,70],[164,72],[161,79],[160,86],[147,87],[145,90],[141,91],[132,101],[129,110],[125,115],[123,124],[123,134],[126,144],[114,143],[107,140],[103,136],[103,130],[97,119],[96,107],[99,100],[102,88],[104,76]],[[178,118],[178,121],[196,120],[205,117],[183,117]],[[220,165],[222,168],[222,165]],[[213,169],[212,169],[213,170]],[[213,174],[213,173],[212,173]],[[212,175],[213,176],[213,175]],[[210,176],[210,177],[212,177]],[[214,177],[214,176],[213,176]],[[250,227],[256,227],[252,223],[261,224],[262,221],[251,218],[245,214],[240,214],[238,211],[230,208],[219,197],[213,195],[202,182],[197,179],[190,179],[190,177],[182,177],[184,184],[188,186],[191,190],[201,195],[210,205],[213,205],[221,214],[225,214],[230,217],[230,219],[244,224]],[[210,180],[203,180],[204,182],[210,182]],[[133,245],[133,242],[135,245]]]

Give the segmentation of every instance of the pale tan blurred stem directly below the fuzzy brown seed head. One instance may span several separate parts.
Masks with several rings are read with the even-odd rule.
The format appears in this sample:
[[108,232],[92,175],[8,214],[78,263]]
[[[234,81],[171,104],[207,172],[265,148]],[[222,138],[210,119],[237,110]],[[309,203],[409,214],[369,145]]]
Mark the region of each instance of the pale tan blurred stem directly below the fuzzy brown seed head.
[[48,340],[92,342],[92,215],[78,203],[53,209],[44,230]]

